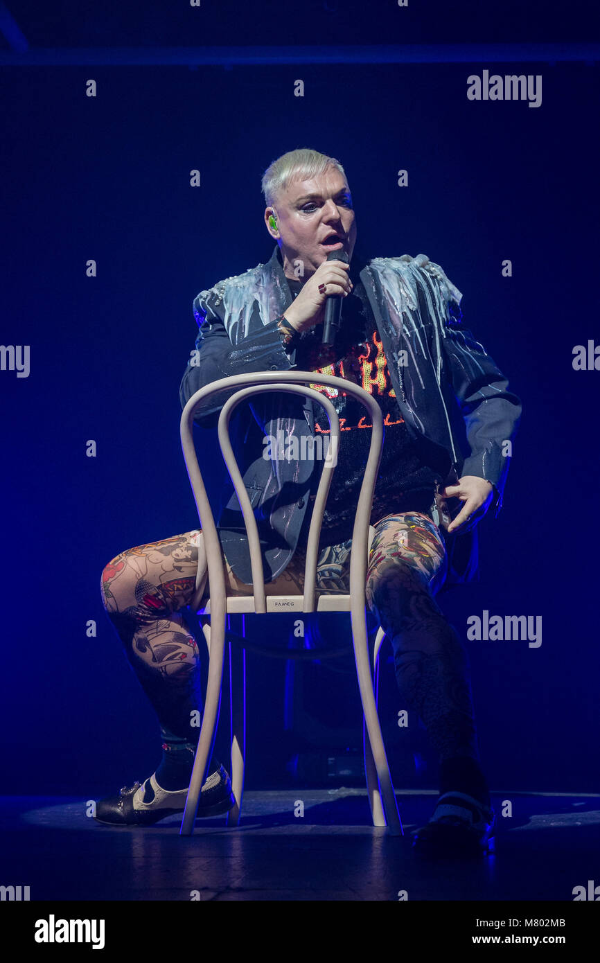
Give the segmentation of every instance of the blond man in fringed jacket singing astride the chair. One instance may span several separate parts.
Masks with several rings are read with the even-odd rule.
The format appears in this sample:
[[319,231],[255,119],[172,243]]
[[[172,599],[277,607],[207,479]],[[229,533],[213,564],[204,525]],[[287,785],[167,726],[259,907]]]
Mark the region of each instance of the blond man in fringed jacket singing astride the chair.
[[[479,760],[466,654],[434,595],[477,568],[475,527],[501,508],[519,399],[483,346],[460,322],[461,294],[439,265],[354,253],[356,220],[342,166],[310,149],[279,157],[263,176],[267,264],[228,277],[194,302],[199,332],[183,376],[184,406],[198,388],[256,371],[310,371],[340,416],[337,467],[327,497],[317,589],[349,591],[353,517],[370,443],[365,409],[318,383],[352,378],[378,401],[385,435],[371,524],[367,604],[392,642],[403,708],[425,724],[440,760],[440,796],[414,846],[425,854],[481,852],[494,815]],[[350,263],[327,261],[344,250]],[[326,299],[342,298],[341,325],[324,345]],[[226,396],[196,414],[216,424]],[[243,405],[241,407],[244,407]],[[452,425],[462,416],[470,454]],[[266,437],[325,436],[321,405],[267,393],[245,409],[236,451],[261,538],[270,594],[301,591],[310,510],[323,462],[266,453]],[[282,433],[281,433],[282,432]],[[314,452],[305,446],[303,452]],[[265,456],[267,455],[267,456]],[[252,594],[248,540],[232,486],[218,515],[228,592]],[[125,551],[102,575],[106,612],[161,724],[163,758],[143,784],[100,800],[96,819],[151,824],[181,812],[194,763],[200,708],[196,639],[180,611],[191,601],[198,529]],[[208,595],[208,586],[205,588]],[[208,768],[198,816],[233,804],[218,760]]]

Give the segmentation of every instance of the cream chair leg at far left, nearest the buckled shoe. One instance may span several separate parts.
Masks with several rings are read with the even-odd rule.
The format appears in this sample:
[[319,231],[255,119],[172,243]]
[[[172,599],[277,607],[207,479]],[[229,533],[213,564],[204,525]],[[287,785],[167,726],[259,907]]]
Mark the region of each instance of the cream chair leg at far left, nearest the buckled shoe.
[[204,625],[202,631],[209,645],[208,682],[206,685],[206,702],[200,726],[200,738],[196,748],[196,758],[192,769],[190,788],[186,798],[186,805],[181,820],[180,836],[191,836],[200,790],[206,778],[208,760],[215,742],[215,729],[221,705],[222,664],[225,647],[225,627],[222,623],[221,631],[211,632],[213,626]]

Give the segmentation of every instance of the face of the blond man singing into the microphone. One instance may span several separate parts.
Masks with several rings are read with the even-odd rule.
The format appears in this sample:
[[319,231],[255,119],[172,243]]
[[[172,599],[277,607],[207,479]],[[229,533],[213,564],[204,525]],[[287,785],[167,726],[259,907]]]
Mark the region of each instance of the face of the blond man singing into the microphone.
[[[277,219],[274,229],[269,224],[269,215],[273,213]],[[281,249],[287,276],[295,276],[297,260],[303,262],[304,276],[310,276],[326,261],[330,250],[343,247],[352,258],[356,222],[350,188],[340,170],[327,168],[311,180],[288,183],[273,207],[265,211],[265,222]],[[342,243],[324,245],[333,232]]]

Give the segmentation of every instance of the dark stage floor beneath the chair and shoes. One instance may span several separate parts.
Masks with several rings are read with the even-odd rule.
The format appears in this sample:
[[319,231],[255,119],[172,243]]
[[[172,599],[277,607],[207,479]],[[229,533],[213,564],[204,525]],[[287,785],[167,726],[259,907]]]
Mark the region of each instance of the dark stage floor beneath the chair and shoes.
[[[31,900],[567,900],[598,877],[600,795],[497,793],[495,852],[479,862],[429,864],[410,831],[435,793],[399,793],[404,837],[370,824],[362,790],[256,793],[239,827],[180,820],[152,828],[101,826],[83,799],[4,796],[0,883]],[[304,816],[294,816],[297,799]],[[512,816],[503,818],[503,800]],[[600,882],[600,878],[598,879]]]

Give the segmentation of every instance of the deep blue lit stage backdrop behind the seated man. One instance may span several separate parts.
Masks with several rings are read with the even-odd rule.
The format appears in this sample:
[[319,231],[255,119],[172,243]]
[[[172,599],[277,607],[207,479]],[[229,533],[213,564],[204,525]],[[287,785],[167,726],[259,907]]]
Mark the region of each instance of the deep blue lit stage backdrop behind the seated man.
[[[469,101],[483,67],[541,74],[542,105]],[[538,648],[466,642],[492,789],[597,790],[600,372],[572,367],[576,345],[600,343],[597,99],[585,63],[5,68],[0,340],[31,346],[29,377],[0,373],[5,793],[92,797],[158,762],[100,575],[118,552],[197,525],[178,403],[192,301],[270,257],[260,178],[301,146],[344,165],[361,251],[443,267],[523,401],[505,506],[480,528],[481,581],[440,604],[463,638],[483,610],[542,616]],[[198,437],[209,463],[214,438]],[[274,618],[285,641],[291,620]],[[265,629],[256,617],[256,638]],[[324,632],[350,645],[347,616]],[[350,648],[343,664],[326,708],[314,692],[304,708],[360,747]],[[289,777],[284,668],[248,657],[249,788]],[[435,788],[423,732],[396,726],[391,664],[383,676],[397,789]]]

